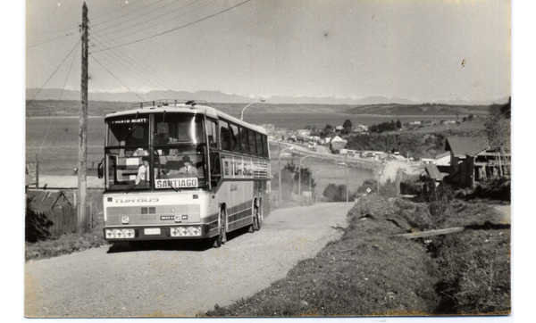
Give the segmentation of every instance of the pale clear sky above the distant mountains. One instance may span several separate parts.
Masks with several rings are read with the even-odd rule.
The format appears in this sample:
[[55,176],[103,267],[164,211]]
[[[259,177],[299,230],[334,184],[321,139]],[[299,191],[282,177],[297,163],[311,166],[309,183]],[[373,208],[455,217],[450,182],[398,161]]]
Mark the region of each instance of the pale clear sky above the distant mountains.
[[[26,87],[80,89],[82,4],[27,1]],[[418,101],[511,95],[509,1],[86,4],[92,92],[218,90]]]

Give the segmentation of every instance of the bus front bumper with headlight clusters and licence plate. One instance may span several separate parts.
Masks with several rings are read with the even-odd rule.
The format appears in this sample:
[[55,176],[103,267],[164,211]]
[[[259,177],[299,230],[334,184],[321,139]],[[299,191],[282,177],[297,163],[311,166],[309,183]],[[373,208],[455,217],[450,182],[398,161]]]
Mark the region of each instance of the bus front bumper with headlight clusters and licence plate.
[[[103,231],[105,240],[110,242],[203,239],[211,237],[211,230],[208,224],[188,224],[169,227],[106,227]],[[212,234],[214,236],[214,229],[212,230]]]

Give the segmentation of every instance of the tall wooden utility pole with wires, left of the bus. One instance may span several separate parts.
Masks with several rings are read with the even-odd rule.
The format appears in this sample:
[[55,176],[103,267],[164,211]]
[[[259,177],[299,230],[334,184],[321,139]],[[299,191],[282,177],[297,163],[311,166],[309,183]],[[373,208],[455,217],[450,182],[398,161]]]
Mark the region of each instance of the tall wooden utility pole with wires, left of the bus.
[[88,215],[86,214],[86,169],[88,160],[88,6],[82,6],[82,25],[80,26],[82,36],[82,79],[80,82],[80,131],[79,131],[79,199],[78,213],[80,231],[88,229]]

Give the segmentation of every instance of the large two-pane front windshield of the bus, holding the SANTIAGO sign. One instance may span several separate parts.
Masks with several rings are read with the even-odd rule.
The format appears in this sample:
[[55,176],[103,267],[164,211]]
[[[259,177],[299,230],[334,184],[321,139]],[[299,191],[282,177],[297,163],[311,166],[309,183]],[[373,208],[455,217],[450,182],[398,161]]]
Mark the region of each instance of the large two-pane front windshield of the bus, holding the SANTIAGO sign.
[[206,186],[202,116],[169,112],[152,116],[106,121],[106,189],[128,193]]

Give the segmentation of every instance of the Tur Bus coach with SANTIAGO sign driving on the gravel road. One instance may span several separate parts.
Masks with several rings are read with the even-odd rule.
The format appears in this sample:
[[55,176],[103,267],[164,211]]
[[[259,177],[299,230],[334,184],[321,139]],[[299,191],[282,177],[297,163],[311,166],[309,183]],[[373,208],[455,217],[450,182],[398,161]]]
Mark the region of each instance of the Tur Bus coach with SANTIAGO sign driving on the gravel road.
[[105,116],[105,239],[204,239],[214,247],[270,212],[264,128],[195,101],[133,104]]

